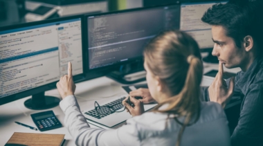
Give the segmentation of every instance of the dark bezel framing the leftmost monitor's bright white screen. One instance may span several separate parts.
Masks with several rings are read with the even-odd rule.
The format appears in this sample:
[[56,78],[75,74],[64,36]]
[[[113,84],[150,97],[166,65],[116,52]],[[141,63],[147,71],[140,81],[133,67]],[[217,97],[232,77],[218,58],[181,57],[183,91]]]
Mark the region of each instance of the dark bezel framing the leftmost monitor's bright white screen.
[[[80,73],[78,75],[74,75],[73,76],[73,80],[74,82],[80,82],[82,80],[85,80],[85,73],[87,72],[86,71],[86,62],[84,62],[84,60],[87,60],[87,53],[86,53],[86,49],[85,49],[85,44],[83,42],[83,38],[85,37],[84,35],[84,29],[83,29],[83,26],[84,26],[84,15],[75,15],[75,16],[71,16],[71,17],[61,17],[61,18],[55,18],[55,19],[47,19],[47,20],[44,20],[44,21],[33,21],[33,22],[28,22],[28,23],[25,23],[25,24],[16,24],[16,25],[12,25],[12,26],[3,26],[3,27],[0,27],[0,31],[3,31],[3,30],[12,30],[12,29],[16,29],[16,28],[24,28],[24,27],[28,27],[28,26],[35,26],[35,25],[39,25],[39,24],[48,24],[48,23],[53,23],[53,22],[56,22],[56,21],[64,21],[64,20],[69,20],[69,19],[78,19],[80,18],[80,21],[81,21],[81,25],[82,25],[82,69],[83,69],[83,73]],[[55,82],[51,82],[51,83],[48,83],[48,84],[44,84],[42,86],[38,86],[34,89],[29,89],[27,91],[22,91],[22,92],[19,92],[19,93],[15,93],[15,94],[12,94],[12,95],[8,95],[6,97],[3,97],[3,98],[0,98],[0,105],[2,104],[6,104],[8,102],[12,102],[12,101],[15,101],[15,100],[19,100],[21,98],[26,98],[30,95],[34,95],[36,93],[41,93],[41,92],[44,92],[44,91],[48,91],[48,90],[51,90],[51,89],[55,89],[56,88],[56,84],[59,80],[55,81]]]

